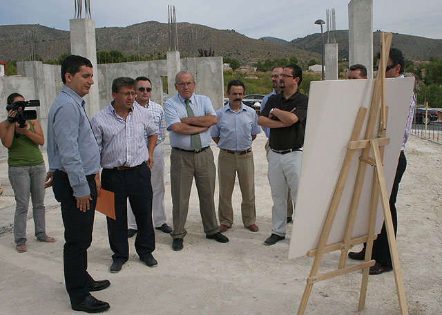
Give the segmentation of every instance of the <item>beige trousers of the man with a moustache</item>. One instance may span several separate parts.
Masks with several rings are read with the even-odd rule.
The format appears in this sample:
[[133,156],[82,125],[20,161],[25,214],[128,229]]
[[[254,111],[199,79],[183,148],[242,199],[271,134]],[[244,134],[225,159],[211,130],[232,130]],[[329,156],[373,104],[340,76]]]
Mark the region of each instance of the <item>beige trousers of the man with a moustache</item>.
[[256,221],[253,152],[239,155],[220,149],[218,155],[218,180],[220,183],[218,216],[220,224],[228,227],[233,224],[232,193],[237,173],[242,195],[242,223],[244,227],[249,227],[249,225],[254,225]]

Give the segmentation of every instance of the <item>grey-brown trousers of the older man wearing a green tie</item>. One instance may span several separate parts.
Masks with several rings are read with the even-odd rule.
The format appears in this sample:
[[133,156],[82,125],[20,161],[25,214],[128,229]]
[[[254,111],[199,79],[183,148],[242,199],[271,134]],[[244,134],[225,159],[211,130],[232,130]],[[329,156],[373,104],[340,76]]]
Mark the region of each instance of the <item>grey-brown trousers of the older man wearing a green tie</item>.
[[172,149],[171,153],[171,193],[172,193],[172,238],[186,236],[187,212],[193,178],[195,178],[198,198],[200,200],[200,213],[204,233],[213,235],[220,231],[215,213],[215,163],[210,148],[192,153]]

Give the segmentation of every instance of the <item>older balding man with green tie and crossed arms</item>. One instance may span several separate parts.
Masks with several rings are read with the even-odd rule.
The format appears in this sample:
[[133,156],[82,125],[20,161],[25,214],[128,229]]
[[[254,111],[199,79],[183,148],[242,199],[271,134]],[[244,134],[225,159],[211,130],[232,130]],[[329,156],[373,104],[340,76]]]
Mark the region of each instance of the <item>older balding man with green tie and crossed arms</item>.
[[210,149],[209,128],[217,117],[209,97],[195,95],[195,81],[188,71],[175,77],[178,94],[164,104],[167,130],[171,141],[172,249],[180,251],[186,236],[187,211],[193,178],[200,198],[200,213],[206,238],[229,242],[220,233],[215,214],[215,163]]

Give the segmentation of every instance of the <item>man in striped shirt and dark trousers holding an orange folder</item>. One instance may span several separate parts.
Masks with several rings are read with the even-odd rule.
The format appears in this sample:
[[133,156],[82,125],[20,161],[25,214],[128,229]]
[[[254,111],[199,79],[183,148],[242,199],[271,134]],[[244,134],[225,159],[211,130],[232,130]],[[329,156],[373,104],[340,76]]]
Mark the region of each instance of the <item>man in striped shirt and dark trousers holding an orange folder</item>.
[[[150,111],[134,106],[135,81],[118,77],[112,83],[111,105],[99,111],[91,124],[101,151],[102,187],[115,194],[115,218],[107,218],[109,244],[113,251],[111,273],[117,273],[129,258],[127,198],[137,220],[135,249],[140,260],[155,267],[155,233],[152,225],[151,168],[158,127]],[[147,135],[148,146],[144,135]]]

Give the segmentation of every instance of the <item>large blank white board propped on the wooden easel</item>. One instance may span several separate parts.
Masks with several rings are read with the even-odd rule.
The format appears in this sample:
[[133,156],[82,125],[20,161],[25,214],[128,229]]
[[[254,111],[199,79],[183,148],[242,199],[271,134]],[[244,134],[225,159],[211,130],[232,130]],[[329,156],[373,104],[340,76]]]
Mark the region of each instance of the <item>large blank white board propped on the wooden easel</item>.
[[[369,109],[374,83],[374,79],[311,82],[289,258],[305,255],[310,249],[318,247],[358,110],[362,106]],[[387,137],[390,137],[390,144],[385,146],[384,172],[389,196],[403,142],[413,84],[414,78],[386,80],[385,99],[389,106]],[[369,111],[360,139],[365,136],[368,115]],[[354,155],[327,245],[341,242],[344,238],[361,151],[356,150]],[[367,166],[352,238],[367,234],[373,175],[374,167]],[[381,231],[382,223],[383,211],[379,202],[376,233]]]

